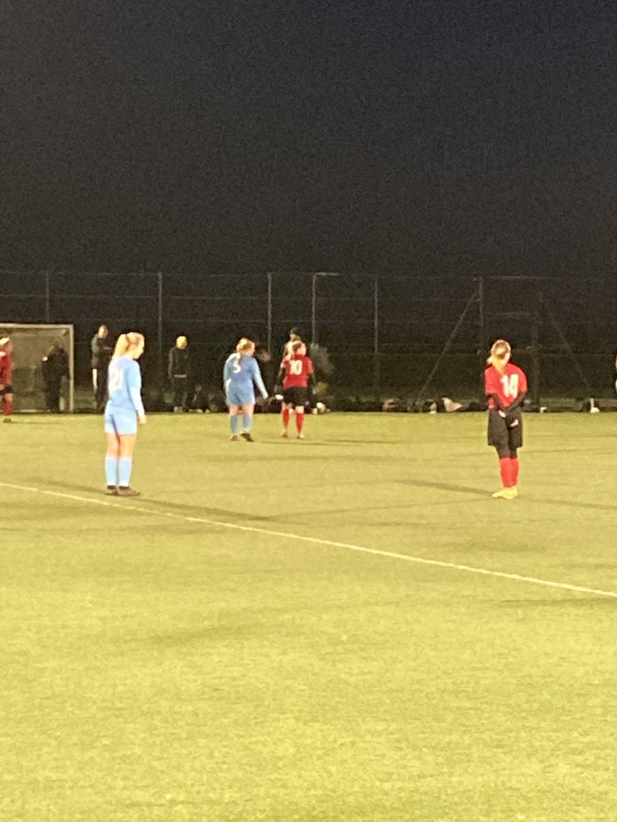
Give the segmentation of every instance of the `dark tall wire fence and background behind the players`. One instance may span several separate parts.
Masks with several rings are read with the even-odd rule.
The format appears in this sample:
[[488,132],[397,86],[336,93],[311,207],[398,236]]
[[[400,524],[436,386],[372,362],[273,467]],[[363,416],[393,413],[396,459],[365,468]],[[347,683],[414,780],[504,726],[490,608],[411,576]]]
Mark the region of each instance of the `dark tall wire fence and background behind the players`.
[[164,383],[167,351],[187,335],[197,381],[212,390],[240,336],[269,347],[276,372],[298,326],[330,353],[329,392],[414,398],[424,387],[425,396],[471,399],[490,342],[505,337],[536,397],[610,396],[616,315],[617,288],[601,279],[0,271],[0,322],[75,326],[82,386],[100,323],[112,335],[146,334],[151,386]]

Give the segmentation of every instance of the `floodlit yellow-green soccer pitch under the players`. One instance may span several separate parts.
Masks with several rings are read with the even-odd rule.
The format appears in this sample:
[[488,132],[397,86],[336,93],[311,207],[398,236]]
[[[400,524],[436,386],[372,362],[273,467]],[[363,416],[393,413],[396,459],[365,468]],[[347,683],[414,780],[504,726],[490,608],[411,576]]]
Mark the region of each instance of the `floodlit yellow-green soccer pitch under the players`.
[[615,820],[617,416],[485,424],[0,426],[0,819]]

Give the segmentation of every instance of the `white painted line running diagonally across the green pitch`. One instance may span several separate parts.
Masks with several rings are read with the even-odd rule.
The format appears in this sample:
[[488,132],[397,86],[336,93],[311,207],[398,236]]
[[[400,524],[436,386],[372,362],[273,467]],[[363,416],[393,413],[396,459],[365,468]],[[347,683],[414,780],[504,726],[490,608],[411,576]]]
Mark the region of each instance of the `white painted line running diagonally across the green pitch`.
[[450,570],[462,570],[470,574],[480,574],[484,576],[495,576],[502,580],[513,580],[514,582],[527,582],[534,585],[545,585],[548,588],[558,588],[564,591],[574,591],[576,593],[593,593],[599,597],[611,597],[617,599],[617,591],[602,591],[596,588],[587,588],[585,585],[572,585],[567,582],[554,582],[552,580],[540,580],[535,576],[523,576],[521,574],[508,574],[501,570],[490,570],[489,568],[476,568],[475,566],[459,565],[456,562],[445,562],[443,560],[430,560],[424,556],[411,556],[409,554],[399,554],[393,551],[382,551],[379,548],[367,548],[363,545],[354,545],[353,543],[339,543],[332,539],[322,539],[319,537],[306,537],[301,533],[290,533],[287,531],[274,531],[267,528],[257,528],[253,525],[239,525],[233,522],[222,522],[221,520],[208,520],[206,517],[188,516],[184,514],[174,514],[172,511],[152,510],[151,508],[143,508],[142,506],[126,505],[124,503],[114,503],[107,500],[96,500],[90,496],[78,496],[77,494],[67,494],[60,491],[48,491],[45,488],[36,488],[27,485],[15,485],[14,483],[0,483],[2,488],[12,488],[15,491],[27,491],[35,494],[44,494],[46,496],[58,496],[65,500],[75,500],[77,502],[86,502],[90,505],[104,506],[105,508],[112,508],[114,510],[129,510],[137,511],[140,514],[149,514],[161,517],[167,517],[171,520],[183,520],[183,522],[197,522],[205,525],[215,525],[217,528],[228,528],[234,531],[246,531],[248,533],[261,533],[269,537],[283,537],[285,539],[296,539],[303,543],[311,543],[313,545],[328,545],[336,548],[346,548],[348,551],[356,551],[363,554],[372,554],[373,556],[387,556],[390,559],[402,560],[405,562],[413,562],[415,565],[434,566],[437,568],[449,568]]

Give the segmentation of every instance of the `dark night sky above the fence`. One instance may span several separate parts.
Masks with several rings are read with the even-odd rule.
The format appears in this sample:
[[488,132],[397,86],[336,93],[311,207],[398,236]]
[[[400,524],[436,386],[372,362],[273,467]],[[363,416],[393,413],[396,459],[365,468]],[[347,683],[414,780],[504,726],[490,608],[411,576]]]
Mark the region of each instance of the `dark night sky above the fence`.
[[615,269],[615,2],[5,9],[4,268]]

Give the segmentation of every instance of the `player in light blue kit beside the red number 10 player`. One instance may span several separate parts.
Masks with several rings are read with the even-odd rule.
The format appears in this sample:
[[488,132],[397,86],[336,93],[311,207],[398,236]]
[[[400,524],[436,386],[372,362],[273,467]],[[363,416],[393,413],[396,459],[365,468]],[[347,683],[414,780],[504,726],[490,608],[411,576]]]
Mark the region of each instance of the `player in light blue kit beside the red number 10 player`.
[[253,411],[255,410],[255,389],[253,386],[257,386],[263,399],[266,399],[268,395],[257,360],[253,358],[254,353],[255,344],[253,340],[243,337],[236,345],[235,353],[230,354],[225,360],[223,385],[225,387],[225,400],[230,409],[230,439],[232,440],[238,439],[238,411],[241,408],[244,424],[244,431],[241,436],[247,442],[253,442],[251,436],[251,424],[253,423]]

